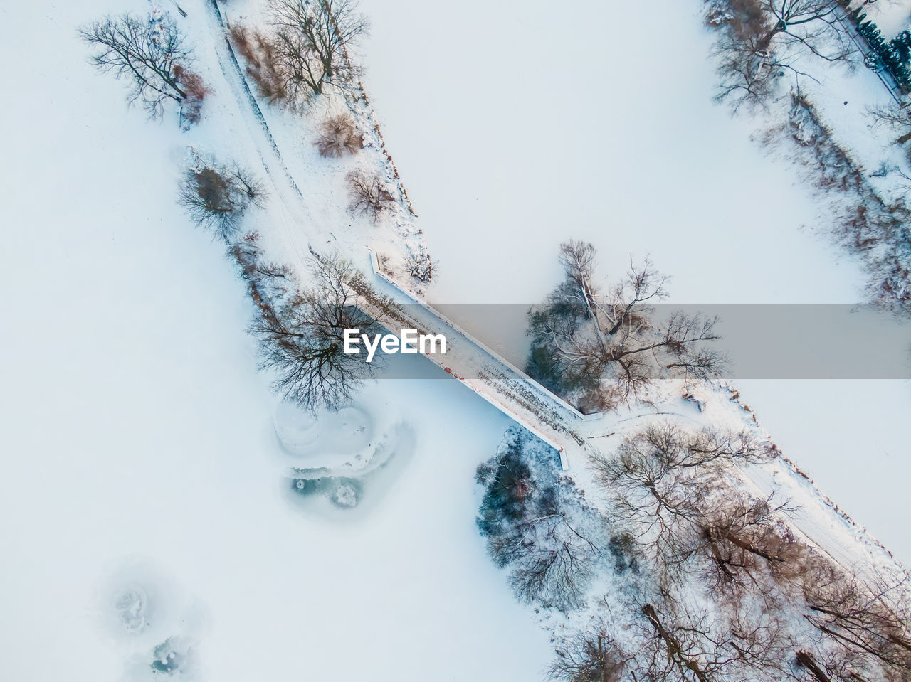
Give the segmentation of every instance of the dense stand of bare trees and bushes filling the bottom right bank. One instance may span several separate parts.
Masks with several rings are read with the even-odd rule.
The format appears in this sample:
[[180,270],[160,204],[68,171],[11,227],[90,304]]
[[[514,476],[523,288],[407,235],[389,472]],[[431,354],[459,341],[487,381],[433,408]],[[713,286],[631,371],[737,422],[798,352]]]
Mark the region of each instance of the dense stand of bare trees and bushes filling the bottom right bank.
[[911,675],[906,579],[839,565],[793,528],[787,501],[750,493],[743,468],[770,456],[748,433],[654,422],[593,459],[595,505],[555,473],[557,453],[507,432],[477,473],[487,549],[520,599],[587,615],[560,630],[550,677]]

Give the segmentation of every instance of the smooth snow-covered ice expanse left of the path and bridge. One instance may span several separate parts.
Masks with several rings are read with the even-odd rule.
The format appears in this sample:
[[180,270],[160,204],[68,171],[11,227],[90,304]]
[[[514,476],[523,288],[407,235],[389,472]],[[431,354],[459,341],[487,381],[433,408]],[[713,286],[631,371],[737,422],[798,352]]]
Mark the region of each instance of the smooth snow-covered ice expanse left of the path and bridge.
[[[371,514],[290,504],[243,287],[174,203],[191,136],[249,143],[210,68],[224,110],[199,133],[125,107],[75,35],[125,8],[148,5],[0,7],[3,677],[135,682],[182,636],[211,680],[537,679],[547,638],[474,524],[476,464],[509,425],[486,402],[383,382],[363,401],[414,447]],[[111,603],[133,583],[138,638]]]

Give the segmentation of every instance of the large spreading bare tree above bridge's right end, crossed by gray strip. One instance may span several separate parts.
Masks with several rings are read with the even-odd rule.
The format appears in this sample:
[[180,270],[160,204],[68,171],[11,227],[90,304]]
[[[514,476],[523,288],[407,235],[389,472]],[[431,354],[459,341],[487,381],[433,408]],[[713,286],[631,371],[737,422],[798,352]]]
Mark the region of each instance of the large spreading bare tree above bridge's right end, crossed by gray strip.
[[716,319],[677,310],[666,321],[652,320],[668,278],[649,260],[630,265],[626,278],[605,291],[594,280],[591,244],[561,244],[560,263],[565,279],[544,305],[528,311],[527,371],[548,388],[600,392],[614,405],[639,399],[661,372],[705,377],[721,367],[721,354],[703,346],[719,338]]

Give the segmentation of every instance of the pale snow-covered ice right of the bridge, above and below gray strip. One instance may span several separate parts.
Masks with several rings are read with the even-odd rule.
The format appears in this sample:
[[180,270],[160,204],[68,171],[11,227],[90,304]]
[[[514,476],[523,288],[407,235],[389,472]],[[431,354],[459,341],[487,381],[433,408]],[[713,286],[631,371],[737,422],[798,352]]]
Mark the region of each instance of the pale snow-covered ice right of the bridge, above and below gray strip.
[[[752,142],[761,121],[711,101],[701,7],[655,0],[639,25],[609,3],[363,0],[365,84],[440,260],[430,300],[540,300],[570,238],[599,248],[605,276],[650,255],[672,302],[864,300],[860,263],[816,236],[825,218],[796,170]],[[891,5],[889,25],[903,13]],[[863,68],[825,87],[859,136],[888,97]],[[460,322],[494,345],[522,333]],[[911,564],[911,384],[738,384],[784,453]]]

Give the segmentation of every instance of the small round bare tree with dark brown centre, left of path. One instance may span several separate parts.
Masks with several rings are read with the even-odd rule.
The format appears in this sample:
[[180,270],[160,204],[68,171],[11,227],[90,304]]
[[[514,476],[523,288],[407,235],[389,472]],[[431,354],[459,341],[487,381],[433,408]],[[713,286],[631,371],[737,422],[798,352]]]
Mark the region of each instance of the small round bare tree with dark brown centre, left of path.
[[244,212],[262,206],[265,189],[237,163],[220,166],[197,157],[180,182],[178,203],[198,225],[230,243]]

